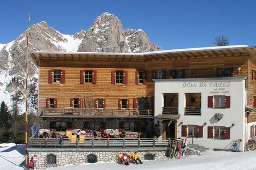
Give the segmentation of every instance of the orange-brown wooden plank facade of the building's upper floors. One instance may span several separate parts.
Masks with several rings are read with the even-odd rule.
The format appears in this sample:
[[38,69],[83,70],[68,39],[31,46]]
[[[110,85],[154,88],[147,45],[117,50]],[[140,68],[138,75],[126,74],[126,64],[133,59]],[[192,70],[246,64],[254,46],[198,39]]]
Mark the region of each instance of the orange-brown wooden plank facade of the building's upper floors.
[[[47,108],[47,99],[54,99],[55,109],[70,109],[72,99],[79,99],[80,109],[97,108],[93,101],[104,99],[104,109],[114,109],[129,114],[123,116],[139,116],[138,99],[143,99],[143,109],[154,112],[154,81],[153,79],[170,78],[214,78],[220,76],[244,76],[248,92],[248,105],[256,107],[256,49],[249,46],[227,46],[200,49],[166,50],[147,53],[61,53],[35,52],[32,58],[39,66],[39,111]],[[64,80],[55,83],[52,70],[60,70]],[[81,75],[83,71],[94,73],[93,81],[86,83]],[[116,83],[113,74],[121,71],[123,82]],[[143,83],[138,83],[138,73],[143,71]],[[114,75],[115,76],[115,75]],[[175,106],[177,97],[166,96]],[[195,98],[189,107],[200,103],[200,96]],[[90,102],[85,102],[90,100]],[[122,99],[126,100],[126,108],[122,108]],[[120,106],[121,104],[121,106]],[[166,104],[172,107],[172,104]],[[141,108],[142,109],[142,108]],[[52,109],[53,111],[53,109]],[[135,112],[135,114],[130,114]],[[53,117],[63,115],[63,112],[52,114]],[[47,116],[48,115],[48,116]],[[51,110],[43,117],[52,117]],[[74,116],[81,116],[74,114]],[[113,116],[102,112],[101,116]],[[86,114],[85,114],[86,117]],[[154,117],[147,114],[146,117]],[[250,111],[248,122],[256,121],[256,112]],[[166,122],[164,122],[166,124]]]

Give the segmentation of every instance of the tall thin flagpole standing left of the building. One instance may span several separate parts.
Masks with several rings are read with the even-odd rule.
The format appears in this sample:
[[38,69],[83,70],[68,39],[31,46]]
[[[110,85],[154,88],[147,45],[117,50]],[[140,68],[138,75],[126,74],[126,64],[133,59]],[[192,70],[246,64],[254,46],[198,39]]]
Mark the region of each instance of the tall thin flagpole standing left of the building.
[[30,12],[28,12],[28,18],[27,18],[27,46],[26,46],[26,112],[25,112],[25,168],[28,169],[28,155],[27,155],[27,78],[28,78],[28,37],[30,36]]

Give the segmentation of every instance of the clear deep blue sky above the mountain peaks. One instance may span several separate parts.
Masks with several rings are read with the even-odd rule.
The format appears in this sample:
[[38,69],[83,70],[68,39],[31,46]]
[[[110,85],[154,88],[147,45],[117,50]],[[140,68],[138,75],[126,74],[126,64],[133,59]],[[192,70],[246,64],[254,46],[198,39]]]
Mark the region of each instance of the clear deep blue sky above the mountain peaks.
[[230,45],[256,46],[255,7],[255,0],[0,0],[0,43],[26,30],[30,11],[30,25],[44,20],[69,35],[110,12],[123,28],[142,29],[163,50],[214,46],[214,37],[221,35],[229,37]]

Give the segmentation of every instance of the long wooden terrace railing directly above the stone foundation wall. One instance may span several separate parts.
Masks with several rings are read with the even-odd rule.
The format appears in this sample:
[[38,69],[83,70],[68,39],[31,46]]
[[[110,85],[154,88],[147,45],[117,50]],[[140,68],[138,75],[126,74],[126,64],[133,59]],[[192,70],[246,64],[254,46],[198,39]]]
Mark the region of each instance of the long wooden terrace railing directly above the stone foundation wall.
[[183,139],[157,138],[85,138],[83,140],[58,138],[30,138],[30,147],[171,147],[183,145]]

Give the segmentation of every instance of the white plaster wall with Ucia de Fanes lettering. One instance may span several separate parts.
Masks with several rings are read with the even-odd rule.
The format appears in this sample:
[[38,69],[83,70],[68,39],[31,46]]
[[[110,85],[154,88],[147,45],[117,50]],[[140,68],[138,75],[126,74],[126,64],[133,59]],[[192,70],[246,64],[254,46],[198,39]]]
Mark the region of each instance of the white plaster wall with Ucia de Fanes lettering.
[[[190,83],[184,87],[184,82]],[[214,82],[225,82],[225,87],[214,87]],[[202,86],[203,85],[203,86]],[[210,93],[210,92],[214,92]],[[163,94],[179,93],[179,114],[177,120],[177,138],[181,137],[182,125],[207,125],[203,128],[203,138],[187,138],[189,143],[213,148],[225,149],[230,143],[237,139],[242,139],[240,151],[245,144],[245,80],[243,78],[209,78],[209,79],[170,79],[155,81],[155,116],[162,114]],[[185,93],[201,93],[201,116],[184,115]],[[216,94],[218,93],[218,94]],[[230,96],[230,108],[208,108],[208,96],[226,95]],[[224,117],[220,121],[214,120],[215,113],[222,113]],[[234,124],[234,126],[232,126]],[[230,139],[210,139],[208,136],[208,126],[230,127]],[[162,134],[162,129],[160,129]]]

